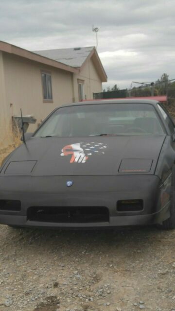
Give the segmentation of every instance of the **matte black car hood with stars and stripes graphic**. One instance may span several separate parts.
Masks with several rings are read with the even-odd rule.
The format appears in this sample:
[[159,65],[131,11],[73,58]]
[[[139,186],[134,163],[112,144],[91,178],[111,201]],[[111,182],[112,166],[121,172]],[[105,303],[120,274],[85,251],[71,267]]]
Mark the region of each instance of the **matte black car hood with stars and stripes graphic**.
[[1,174],[154,174],[165,137],[31,138],[11,155]]

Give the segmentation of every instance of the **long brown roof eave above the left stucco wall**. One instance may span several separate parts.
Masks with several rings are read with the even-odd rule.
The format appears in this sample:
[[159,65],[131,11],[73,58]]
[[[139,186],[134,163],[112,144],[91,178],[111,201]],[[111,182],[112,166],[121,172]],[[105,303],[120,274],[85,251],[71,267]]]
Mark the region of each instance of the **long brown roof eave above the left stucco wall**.
[[21,56],[23,58],[42,63],[44,65],[48,65],[54,68],[66,70],[72,73],[79,73],[79,69],[73,68],[71,66],[65,65],[63,63],[57,62],[53,59],[38,55],[34,52],[30,52],[28,50],[19,48],[15,45],[0,41],[0,51],[10,53],[13,55]]

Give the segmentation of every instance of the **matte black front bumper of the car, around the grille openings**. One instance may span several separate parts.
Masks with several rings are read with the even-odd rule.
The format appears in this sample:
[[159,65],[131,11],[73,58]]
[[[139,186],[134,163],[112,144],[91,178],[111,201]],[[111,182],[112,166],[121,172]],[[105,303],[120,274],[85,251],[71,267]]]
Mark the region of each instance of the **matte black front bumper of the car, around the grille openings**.
[[[73,180],[72,187],[66,182]],[[170,183],[160,187],[155,175],[118,176],[0,176],[0,200],[19,200],[20,211],[0,210],[0,224],[31,227],[116,227],[162,223],[170,216],[169,197],[162,204],[162,193],[170,192]],[[140,211],[117,211],[119,200],[143,200]],[[29,207],[107,207],[105,222],[32,221]]]

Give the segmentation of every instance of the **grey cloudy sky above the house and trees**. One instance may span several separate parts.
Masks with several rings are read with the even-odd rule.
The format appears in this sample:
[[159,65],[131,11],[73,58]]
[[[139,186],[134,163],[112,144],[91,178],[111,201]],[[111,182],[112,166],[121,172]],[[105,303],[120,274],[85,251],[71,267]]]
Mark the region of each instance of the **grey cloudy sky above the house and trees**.
[[0,40],[30,51],[96,45],[92,25],[104,87],[175,78],[175,0],[0,0]]

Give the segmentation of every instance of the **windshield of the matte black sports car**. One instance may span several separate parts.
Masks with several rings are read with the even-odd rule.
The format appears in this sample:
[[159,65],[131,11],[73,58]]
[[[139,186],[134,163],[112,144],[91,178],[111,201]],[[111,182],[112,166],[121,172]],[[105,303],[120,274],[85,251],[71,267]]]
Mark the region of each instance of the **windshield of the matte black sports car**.
[[35,137],[156,135],[164,133],[150,104],[86,104],[57,109]]

